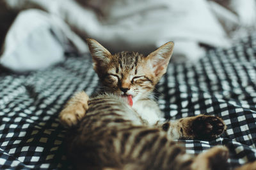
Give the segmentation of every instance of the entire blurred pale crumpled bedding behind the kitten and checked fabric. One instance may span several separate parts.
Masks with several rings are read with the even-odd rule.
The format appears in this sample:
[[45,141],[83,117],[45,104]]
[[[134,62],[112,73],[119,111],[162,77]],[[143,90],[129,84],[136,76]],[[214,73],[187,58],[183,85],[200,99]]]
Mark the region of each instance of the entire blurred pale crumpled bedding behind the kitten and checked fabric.
[[145,55],[174,41],[172,62],[196,62],[255,31],[255,8],[256,0],[1,0],[0,64],[42,69],[88,53],[86,38]]

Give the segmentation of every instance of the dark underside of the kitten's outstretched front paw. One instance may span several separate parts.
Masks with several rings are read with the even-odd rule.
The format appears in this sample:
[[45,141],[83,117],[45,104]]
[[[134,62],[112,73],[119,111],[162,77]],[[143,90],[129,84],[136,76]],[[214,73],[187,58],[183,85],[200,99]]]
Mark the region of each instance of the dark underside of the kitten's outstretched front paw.
[[193,120],[191,129],[196,139],[212,139],[220,136],[226,125],[221,118],[198,115]]

